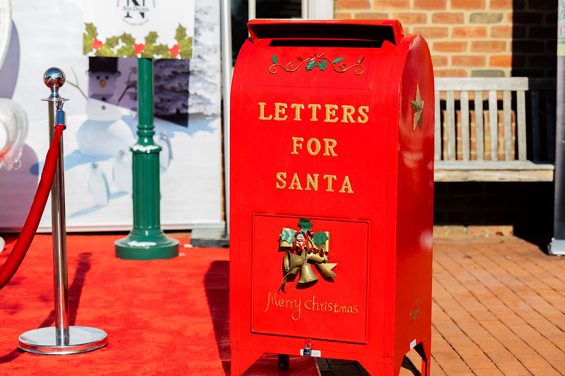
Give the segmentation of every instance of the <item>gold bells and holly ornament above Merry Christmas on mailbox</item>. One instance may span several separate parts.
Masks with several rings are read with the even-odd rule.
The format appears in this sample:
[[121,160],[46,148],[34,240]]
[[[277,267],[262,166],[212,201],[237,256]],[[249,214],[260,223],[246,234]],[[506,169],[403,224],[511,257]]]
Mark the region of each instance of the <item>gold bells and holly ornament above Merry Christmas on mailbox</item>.
[[[283,228],[279,234],[279,250],[284,250],[282,284],[291,274],[299,276],[298,284],[308,284],[318,280],[313,265],[323,277],[337,277],[333,271],[337,263],[331,263],[330,233],[327,231],[312,231],[310,219],[302,218],[298,222],[300,231]],[[307,287],[309,285],[306,285]]]

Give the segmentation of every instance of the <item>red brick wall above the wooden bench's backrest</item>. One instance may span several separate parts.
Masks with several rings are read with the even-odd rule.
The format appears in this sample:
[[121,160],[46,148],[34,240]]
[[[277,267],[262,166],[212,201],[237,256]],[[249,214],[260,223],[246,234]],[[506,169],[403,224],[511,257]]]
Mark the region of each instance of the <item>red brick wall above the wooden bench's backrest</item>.
[[558,0],[334,1],[335,18],[394,18],[424,35],[436,76],[556,72]]

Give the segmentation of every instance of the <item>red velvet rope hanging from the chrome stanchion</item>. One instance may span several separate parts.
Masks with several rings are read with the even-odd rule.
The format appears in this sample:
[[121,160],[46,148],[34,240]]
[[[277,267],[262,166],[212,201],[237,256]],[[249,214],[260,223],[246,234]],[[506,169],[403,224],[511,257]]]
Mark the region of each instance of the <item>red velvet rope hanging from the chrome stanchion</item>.
[[39,226],[43,210],[45,210],[45,204],[47,204],[47,198],[49,198],[49,192],[53,186],[55,171],[57,171],[59,143],[61,142],[63,130],[63,125],[59,124],[55,126],[55,134],[49,146],[49,151],[47,151],[47,157],[45,157],[45,166],[43,166],[41,179],[39,186],[37,186],[35,198],[33,198],[33,203],[31,204],[28,219],[25,219],[20,236],[18,236],[16,244],[13,246],[10,255],[8,255],[8,259],[0,269],[0,289],[8,284],[13,274],[16,274],[18,267],[20,267],[23,261],[23,257],[25,257],[25,253],[27,253],[28,248],[30,248],[30,244]]

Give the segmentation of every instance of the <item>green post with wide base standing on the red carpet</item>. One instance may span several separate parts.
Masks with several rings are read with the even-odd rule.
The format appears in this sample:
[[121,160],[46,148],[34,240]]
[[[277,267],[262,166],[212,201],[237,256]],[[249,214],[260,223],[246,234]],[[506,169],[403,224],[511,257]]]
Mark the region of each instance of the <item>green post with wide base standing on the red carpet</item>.
[[138,140],[132,150],[134,228],[115,242],[116,257],[155,260],[178,255],[178,241],[161,230],[159,152],[153,141],[153,61],[137,60]]

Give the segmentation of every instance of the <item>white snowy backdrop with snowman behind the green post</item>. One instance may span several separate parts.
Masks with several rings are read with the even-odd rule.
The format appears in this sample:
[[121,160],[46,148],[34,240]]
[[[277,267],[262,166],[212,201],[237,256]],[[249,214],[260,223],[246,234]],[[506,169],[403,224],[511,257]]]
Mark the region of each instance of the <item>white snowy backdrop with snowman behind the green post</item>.
[[[149,16],[155,16],[165,3],[182,10],[168,11],[173,13],[168,23],[171,32],[150,23],[154,19]],[[132,7],[129,16],[150,30],[141,31],[139,41],[133,32],[105,31],[103,23],[86,17],[92,16],[93,6],[103,5],[122,18],[127,16],[127,7]],[[175,18],[176,13],[187,20]],[[87,28],[89,23],[95,25],[95,31]],[[12,0],[11,26],[0,67],[0,80],[6,83],[1,85],[0,98],[21,106],[28,125],[21,132],[25,139],[18,162],[10,169],[0,166],[0,231],[21,229],[37,188],[49,147],[47,104],[40,100],[49,90],[42,76],[51,66],[66,74],[59,93],[69,98],[64,106],[67,128],[63,135],[67,228],[131,229],[129,147],[136,142],[137,57],[150,52],[155,59],[154,139],[163,148],[163,229],[223,228],[219,1]],[[112,35],[105,36],[105,32],[122,38],[114,44]],[[132,40],[123,37],[124,33]],[[91,37],[91,51],[86,51],[85,41]],[[127,51],[129,42],[136,57],[120,57],[129,56],[117,54],[120,49]],[[40,231],[51,229],[49,205]]]

